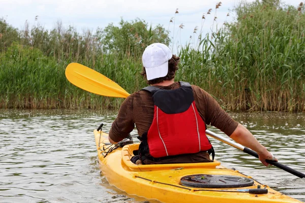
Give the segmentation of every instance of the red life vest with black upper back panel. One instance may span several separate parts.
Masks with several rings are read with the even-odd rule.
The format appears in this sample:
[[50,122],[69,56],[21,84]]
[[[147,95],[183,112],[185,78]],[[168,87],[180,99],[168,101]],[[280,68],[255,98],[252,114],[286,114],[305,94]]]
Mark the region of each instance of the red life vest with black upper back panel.
[[149,86],[154,98],[154,119],[147,132],[149,153],[154,158],[197,153],[212,148],[206,137],[206,125],[200,117],[187,82],[181,87],[164,90]]

